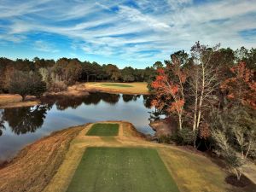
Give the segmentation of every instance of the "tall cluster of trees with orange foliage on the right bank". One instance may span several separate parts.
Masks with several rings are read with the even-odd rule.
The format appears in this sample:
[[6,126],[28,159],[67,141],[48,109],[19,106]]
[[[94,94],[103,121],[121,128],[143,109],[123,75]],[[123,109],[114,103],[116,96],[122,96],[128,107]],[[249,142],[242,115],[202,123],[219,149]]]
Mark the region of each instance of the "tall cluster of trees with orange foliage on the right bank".
[[190,54],[172,54],[149,84],[152,106],[177,125],[161,139],[214,151],[239,180],[247,160],[256,159],[255,69],[256,49],[197,42]]

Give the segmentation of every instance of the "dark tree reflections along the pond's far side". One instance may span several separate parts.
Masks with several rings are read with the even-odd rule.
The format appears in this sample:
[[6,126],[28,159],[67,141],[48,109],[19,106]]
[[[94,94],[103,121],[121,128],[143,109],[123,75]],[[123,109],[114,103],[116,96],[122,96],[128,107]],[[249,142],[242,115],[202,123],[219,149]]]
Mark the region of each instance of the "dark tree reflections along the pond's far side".
[[[136,102],[138,98],[140,98],[140,95],[122,95],[124,102]],[[11,131],[17,135],[37,131],[44,124],[46,114],[53,105],[58,110],[63,111],[67,108],[76,109],[83,103],[85,105],[97,105],[103,101],[114,105],[119,102],[119,99],[119,94],[101,92],[90,93],[88,96],[44,96],[42,105],[0,109],[0,136],[5,129],[5,122],[9,124]],[[143,103],[146,108],[150,108],[150,100],[150,96],[143,96]]]

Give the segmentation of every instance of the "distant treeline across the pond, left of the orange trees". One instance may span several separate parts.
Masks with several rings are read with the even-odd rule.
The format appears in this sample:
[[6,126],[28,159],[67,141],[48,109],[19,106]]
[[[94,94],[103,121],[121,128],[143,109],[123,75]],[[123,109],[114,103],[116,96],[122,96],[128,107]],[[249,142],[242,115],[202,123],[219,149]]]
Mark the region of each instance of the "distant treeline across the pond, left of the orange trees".
[[46,90],[66,90],[68,85],[87,81],[148,82],[154,67],[137,69],[96,62],[61,58],[58,61],[38,57],[32,61],[0,58],[0,92],[40,96]]

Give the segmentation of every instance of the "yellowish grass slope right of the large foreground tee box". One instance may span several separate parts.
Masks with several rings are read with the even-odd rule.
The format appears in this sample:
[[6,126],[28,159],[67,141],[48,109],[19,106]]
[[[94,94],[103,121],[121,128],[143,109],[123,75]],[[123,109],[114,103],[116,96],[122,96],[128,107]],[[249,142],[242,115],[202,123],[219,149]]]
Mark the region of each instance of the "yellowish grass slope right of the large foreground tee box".
[[229,191],[225,172],[205,156],[174,148],[160,148],[159,152],[181,191]]

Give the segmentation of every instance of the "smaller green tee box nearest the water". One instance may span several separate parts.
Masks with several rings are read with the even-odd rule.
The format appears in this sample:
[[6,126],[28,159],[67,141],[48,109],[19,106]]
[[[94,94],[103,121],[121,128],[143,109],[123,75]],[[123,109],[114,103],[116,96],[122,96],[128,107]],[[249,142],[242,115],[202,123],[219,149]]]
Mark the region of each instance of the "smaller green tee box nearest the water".
[[118,124],[94,124],[86,133],[87,136],[117,136],[118,134]]

